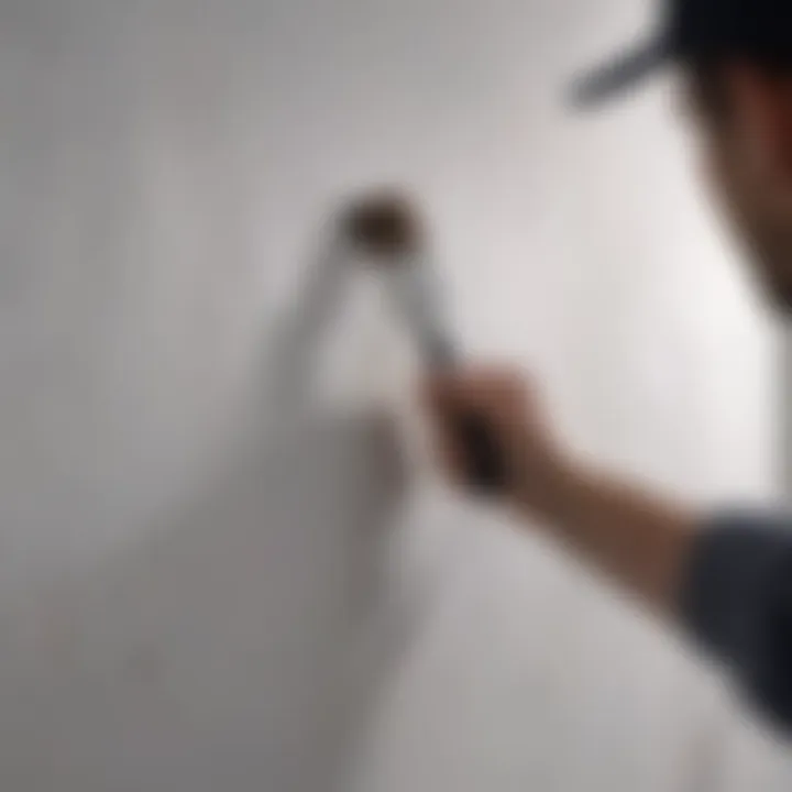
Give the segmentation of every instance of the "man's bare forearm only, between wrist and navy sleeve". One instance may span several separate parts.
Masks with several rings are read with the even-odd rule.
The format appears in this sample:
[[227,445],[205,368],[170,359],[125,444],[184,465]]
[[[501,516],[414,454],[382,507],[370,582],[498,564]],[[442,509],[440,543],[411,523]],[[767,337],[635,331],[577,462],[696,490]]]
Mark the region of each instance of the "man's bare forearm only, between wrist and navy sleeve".
[[683,506],[568,462],[539,486],[526,481],[518,504],[653,608],[675,612],[697,524]]

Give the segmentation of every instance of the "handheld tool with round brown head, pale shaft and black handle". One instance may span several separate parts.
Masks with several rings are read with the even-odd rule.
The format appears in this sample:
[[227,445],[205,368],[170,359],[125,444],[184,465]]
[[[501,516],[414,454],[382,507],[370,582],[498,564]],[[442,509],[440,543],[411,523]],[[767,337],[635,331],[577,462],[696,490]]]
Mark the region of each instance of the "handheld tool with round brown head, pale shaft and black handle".
[[[386,290],[425,365],[433,371],[458,369],[463,356],[442,310],[443,289],[426,227],[411,202],[386,194],[360,200],[342,216],[342,233],[386,278]],[[482,495],[501,494],[507,465],[485,417],[464,413],[448,420],[464,454],[470,487]]]

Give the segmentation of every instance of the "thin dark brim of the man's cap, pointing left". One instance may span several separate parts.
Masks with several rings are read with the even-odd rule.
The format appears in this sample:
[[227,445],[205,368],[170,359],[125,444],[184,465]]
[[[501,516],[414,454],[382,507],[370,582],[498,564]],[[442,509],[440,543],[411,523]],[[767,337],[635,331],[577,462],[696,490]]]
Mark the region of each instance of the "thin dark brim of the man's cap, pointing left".
[[580,108],[601,105],[638,86],[673,56],[663,40],[648,42],[583,75],[572,85],[572,102]]

